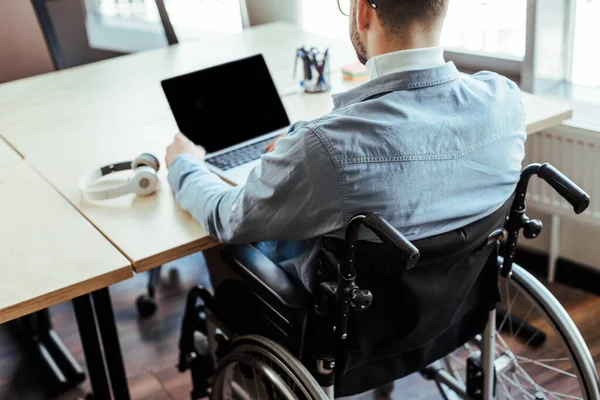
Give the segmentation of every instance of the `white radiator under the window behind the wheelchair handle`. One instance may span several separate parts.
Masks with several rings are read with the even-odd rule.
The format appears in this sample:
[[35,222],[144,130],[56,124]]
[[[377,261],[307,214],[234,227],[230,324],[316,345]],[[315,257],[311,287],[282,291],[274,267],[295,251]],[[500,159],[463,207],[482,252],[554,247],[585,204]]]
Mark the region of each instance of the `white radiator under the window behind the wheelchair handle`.
[[600,135],[577,128],[561,126],[528,137],[524,165],[548,162],[568,176],[590,196],[589,208],[576,215],[558,193],[541,179],[532,178],[527,191],[527,207],[552,216],[548,279],[554,280],[556,260],[560,253],[560,221],[600,228]]

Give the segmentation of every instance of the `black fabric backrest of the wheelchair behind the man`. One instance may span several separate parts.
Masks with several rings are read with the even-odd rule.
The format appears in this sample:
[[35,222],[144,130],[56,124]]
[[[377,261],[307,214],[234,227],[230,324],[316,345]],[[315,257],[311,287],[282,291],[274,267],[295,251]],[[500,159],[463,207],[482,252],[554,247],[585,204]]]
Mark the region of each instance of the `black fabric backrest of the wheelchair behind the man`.
[[[408,271],[386,245],[357,245],[356,284],[374,300],[350,315],[336,395],[417,372],[481,333],[500,300],[496,246],[486,245],[487,236],[503,227],[511,203],[467,227],[416,241],[421,261]],[[324,243],[341,257],[342,241]]]

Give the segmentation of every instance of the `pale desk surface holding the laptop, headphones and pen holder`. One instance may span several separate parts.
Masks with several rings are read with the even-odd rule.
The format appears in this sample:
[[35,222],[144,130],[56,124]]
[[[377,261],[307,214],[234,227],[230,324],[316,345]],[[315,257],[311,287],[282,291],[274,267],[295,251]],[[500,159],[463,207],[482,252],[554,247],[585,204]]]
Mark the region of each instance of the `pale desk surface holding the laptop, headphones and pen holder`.
[[[273,40],[277,38],[277,40]],[[294,49],[329,46],[334,91],[351,85],[339,67],[355,60],[349,43],[277,23],[241,34],[207,34],[198,42],[138,53],[0,86],[0,135],[71,201],[133,264],[143,271],[215,246],[161,188],[148,198],[126,196],[90,203],[77,188],[81,175],[142,152],[164,159],[177,126],[160,88],[166,77],[263,53],[282,95],[292,87]],[[235,88],[231,88],[235,89]],[[331,109],[330,94],[283,97],[290,119],[312,119]],[[526,96],[530,133],[570,115],[560,103]],[[126,179],[126,175],[117,177]]]

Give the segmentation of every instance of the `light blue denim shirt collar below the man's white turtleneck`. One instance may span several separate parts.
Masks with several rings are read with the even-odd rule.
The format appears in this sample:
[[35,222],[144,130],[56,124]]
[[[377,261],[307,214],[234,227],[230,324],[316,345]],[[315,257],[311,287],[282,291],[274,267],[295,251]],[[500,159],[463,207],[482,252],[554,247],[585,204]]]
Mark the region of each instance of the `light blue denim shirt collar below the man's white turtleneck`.
[[460,73],[453,62],[428,69],[391,72],[363,83],[345,93],[334,94],[334,110],[359,103],[382,93],[436,86],[459,78]]

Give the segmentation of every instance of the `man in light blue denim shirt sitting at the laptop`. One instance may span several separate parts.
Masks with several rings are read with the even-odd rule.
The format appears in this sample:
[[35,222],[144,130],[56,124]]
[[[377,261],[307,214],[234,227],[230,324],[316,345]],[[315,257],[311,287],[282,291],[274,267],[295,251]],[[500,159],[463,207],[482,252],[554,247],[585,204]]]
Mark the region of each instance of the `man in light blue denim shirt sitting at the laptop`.
[[[461,76],[444,62],[447,6],[351,0],[350,35],[370,81],[296,124],[244,186],[209,172],[204,150],[178,134],[167,165],[179,204],[224,243],[262,242],[309,289],[319,238],[343,237],[356,213],[378,212],[416,240],[496,211],[524,157],[520,92],[497,74]],[[375,240],[366,231],[360,239]]]

